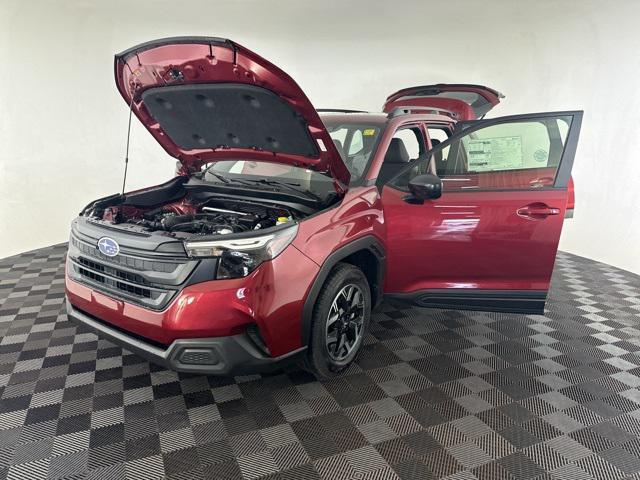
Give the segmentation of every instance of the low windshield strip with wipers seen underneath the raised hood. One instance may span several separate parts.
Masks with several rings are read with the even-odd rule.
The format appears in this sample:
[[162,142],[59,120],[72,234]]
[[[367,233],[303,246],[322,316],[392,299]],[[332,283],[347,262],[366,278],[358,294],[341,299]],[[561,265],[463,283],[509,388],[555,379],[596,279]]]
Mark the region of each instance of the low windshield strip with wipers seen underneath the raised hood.
[[297,191],[315,200],[325,200],[335,194],[330,176],[283,163],[221,160],[205,165],[203,171],[204,180],[209,182],[250,185],[288,193]]

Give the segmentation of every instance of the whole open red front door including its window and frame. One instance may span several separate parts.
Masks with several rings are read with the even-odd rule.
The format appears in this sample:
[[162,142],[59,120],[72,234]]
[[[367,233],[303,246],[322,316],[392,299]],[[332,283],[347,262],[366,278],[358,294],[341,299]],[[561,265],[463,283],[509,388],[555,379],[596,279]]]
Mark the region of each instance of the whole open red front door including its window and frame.
[[[541,313],[581,116],[475,122],[388,182],[382,191],[385,291],[423,306]],[[554,138],[560,120],[568,128]],[[541,136],[540,125],[549,138]],[[448,158],[434,162],[442,153]],[[539,166],[532,168],[532,162]],[[438,171],[442,196],[420,203],[408,182],[435,163],[444,169]]]

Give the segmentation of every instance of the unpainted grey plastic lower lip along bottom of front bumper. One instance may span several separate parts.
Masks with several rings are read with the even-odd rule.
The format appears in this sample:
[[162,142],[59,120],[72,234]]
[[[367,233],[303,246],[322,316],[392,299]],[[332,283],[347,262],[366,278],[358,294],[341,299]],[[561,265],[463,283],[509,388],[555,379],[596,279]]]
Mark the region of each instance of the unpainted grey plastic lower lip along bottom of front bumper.
[[67,316],[105,338],[146,360],[178,372],[206,375],[240,375],[283,366],[293,361],[306,347],[279,357],[264,355],[246,334],[214,338],[174,340],[163,348],[109,326],[77,309],[67,299]]

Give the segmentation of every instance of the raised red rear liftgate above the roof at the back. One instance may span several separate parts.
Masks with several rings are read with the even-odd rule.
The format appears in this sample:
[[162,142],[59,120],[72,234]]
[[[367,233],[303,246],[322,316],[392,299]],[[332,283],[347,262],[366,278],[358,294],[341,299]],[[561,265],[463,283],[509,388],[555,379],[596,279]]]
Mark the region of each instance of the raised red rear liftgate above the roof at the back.
[[482,85],[447,84],[422,85],[398,90],[387,97],[383,111],[395,108],[432,108],[452,114],[457,120],[476,120],[500,103],[500,92]]

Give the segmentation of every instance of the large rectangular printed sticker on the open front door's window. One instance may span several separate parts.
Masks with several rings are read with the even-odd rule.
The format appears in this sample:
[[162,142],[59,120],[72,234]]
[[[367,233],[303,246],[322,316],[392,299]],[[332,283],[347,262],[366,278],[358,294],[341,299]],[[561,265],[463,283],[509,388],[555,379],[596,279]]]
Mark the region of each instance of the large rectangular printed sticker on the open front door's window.
[[469,171],[490,172],[522,168],[522,137],[468,138]]

